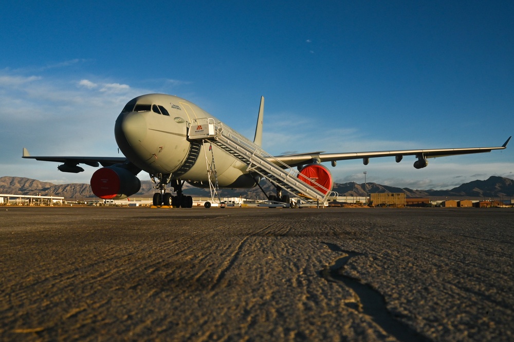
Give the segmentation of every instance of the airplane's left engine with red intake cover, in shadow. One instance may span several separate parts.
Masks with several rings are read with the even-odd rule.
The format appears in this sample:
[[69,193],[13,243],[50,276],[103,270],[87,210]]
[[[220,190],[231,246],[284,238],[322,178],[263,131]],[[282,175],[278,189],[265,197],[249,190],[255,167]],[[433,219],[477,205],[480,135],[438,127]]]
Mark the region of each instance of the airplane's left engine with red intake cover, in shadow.
[[91,190],[105,200],[123,200],[141,189],[141,181],[132,172],[109,166],[98,169],[91,176]]

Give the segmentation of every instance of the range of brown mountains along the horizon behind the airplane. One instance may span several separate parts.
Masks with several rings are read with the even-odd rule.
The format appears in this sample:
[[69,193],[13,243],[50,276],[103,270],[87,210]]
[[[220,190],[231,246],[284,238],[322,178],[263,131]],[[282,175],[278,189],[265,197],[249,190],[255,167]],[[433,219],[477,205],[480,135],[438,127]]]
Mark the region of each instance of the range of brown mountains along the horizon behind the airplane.
[[[262,182],[261,186],[266,193],[274,193],[275,188],[269,182]],[[151,181],[141,182],[141,190],[132,197],[152,197],[155,192]],[[366,184],[367,192],[405,192],[407,197],[508,197],[514,194],[514,181],[509,178],[491,176],[485,181],[473,181],[462,184],[450,190],[413,190],[409,188],[396,188],[376,183]],[[170,188],[173,190],[172,188]],[[340,196],[364,196],[364,184],[334,183],[334,191]],[[199,189],[189,184],[184,185],[184,191],[192,196],[208,197],[209,188]],[[95,197],[89,184],[52,184],[23,177],[0,177],[0,193],[43,196],[63,196],[67,200],[86,199]],[[264,195],[258,187],[253,189],[222,189],[223,197],[243,196],[247,199],[263,199]]]

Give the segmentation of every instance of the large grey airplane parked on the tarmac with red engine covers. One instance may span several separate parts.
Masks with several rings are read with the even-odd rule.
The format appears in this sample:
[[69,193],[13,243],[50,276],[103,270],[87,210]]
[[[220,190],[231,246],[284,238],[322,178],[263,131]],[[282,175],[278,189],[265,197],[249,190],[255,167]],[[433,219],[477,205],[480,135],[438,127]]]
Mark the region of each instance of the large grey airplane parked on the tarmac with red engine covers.
[[[250,141],[186,99],[147,94],[128,101],[116,119],[114,134],[124,157],[31,156],[26,148],[22,157],[63,163],[58,166],[62,172],[84,171],[79,164],[101,165],[90,180],[91,190],[101,199],[125,199],[137,193],[141,187],[137,174],[144,171],[158,190],[153,197],[155,206],[191,208],[192,197],[182,192],[185,182],[204,188],[213,183],[216,188],[253,188],[260,187],[263,178],[277,186],[276,195],[265,193],[268,199],[288,205],[289,196],[282,194],[283,188],[318,203],[331,193],[332,175],[321,163],[331,162],[335,167],[339,160],[362,159],[368,165],[370,158],[388,156],[399,163],[404,156],[414,156],[414,168],[421,169],[427,167],[428,158],[505,149],[511,138],[498,147],[271,156],[262,150],[263,117],[261,97],[255,135]],[[175,195],[167,191],[168,185]]]

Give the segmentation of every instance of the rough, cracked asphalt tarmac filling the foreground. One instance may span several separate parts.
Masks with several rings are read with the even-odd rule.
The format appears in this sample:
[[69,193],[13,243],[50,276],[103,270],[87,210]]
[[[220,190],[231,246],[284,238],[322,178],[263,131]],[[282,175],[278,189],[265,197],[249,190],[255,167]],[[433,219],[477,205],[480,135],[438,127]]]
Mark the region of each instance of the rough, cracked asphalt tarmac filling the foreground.
[[0,207],[0,339],[512,341],[513,219]]

